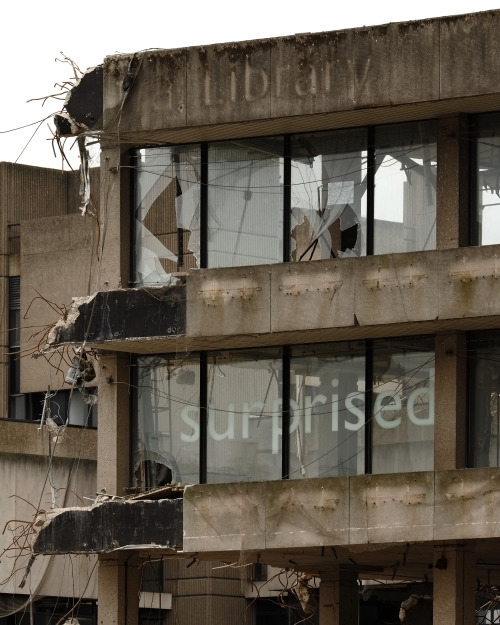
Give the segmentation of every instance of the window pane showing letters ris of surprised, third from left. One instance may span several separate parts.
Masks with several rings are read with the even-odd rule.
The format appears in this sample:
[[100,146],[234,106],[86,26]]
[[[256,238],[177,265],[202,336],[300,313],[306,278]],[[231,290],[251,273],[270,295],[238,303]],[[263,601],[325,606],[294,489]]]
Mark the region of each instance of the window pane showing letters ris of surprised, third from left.
[[365,472],[365,344],[292,349],[290,478]]

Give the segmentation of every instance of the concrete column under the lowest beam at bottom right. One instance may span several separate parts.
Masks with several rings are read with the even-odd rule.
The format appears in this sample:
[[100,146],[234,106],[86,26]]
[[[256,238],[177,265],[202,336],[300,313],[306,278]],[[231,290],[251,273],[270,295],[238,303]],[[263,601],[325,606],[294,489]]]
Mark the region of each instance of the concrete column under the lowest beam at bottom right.
[[471,625],[475,622],[476,557],[469,547],[434,551],[435,625]]

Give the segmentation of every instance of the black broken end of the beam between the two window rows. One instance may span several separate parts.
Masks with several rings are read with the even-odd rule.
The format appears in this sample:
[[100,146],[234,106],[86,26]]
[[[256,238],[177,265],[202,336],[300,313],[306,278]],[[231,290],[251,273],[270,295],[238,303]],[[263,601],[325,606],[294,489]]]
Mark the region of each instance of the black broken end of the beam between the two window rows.
[[100,292],[73,322],[57,327],[56,343],[94,343],[186,333],[186,287]]

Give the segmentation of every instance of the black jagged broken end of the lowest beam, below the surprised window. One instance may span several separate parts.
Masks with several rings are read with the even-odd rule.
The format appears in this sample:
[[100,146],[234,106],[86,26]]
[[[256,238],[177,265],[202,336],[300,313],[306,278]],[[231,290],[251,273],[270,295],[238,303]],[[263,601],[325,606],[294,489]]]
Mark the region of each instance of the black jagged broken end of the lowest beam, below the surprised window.
[[182,546],[182,499],[107,501],[50,516],[33,553],[107,553],[137,546]]

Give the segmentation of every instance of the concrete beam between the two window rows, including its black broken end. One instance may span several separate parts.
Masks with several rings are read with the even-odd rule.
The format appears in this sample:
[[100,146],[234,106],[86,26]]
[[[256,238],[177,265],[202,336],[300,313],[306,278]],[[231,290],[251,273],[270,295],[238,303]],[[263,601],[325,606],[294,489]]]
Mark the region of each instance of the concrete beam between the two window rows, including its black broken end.
[[500,245],[193,270],[156,299],[77,302],[55,337],[81,341],[91,322],[88,346],[172,353],[484,329],[498,327],[499,278]]

